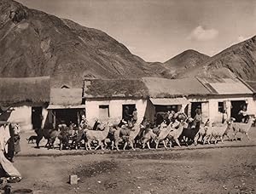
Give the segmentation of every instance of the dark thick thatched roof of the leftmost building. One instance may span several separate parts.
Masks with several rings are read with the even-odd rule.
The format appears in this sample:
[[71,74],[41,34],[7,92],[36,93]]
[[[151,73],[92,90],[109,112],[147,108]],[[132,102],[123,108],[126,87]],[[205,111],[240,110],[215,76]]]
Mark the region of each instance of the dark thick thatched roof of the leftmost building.
[[0,78],[0,105],[49,102],[49,77]]

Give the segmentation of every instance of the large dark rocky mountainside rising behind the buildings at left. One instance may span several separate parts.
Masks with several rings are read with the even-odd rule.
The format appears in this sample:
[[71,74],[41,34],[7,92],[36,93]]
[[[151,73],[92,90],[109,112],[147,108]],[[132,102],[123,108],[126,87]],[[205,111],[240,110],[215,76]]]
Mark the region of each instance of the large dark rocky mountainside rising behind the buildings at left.
[[159,76],[103,31],[0,0],[0,77],[53,77],[80,86],[84,77]]

